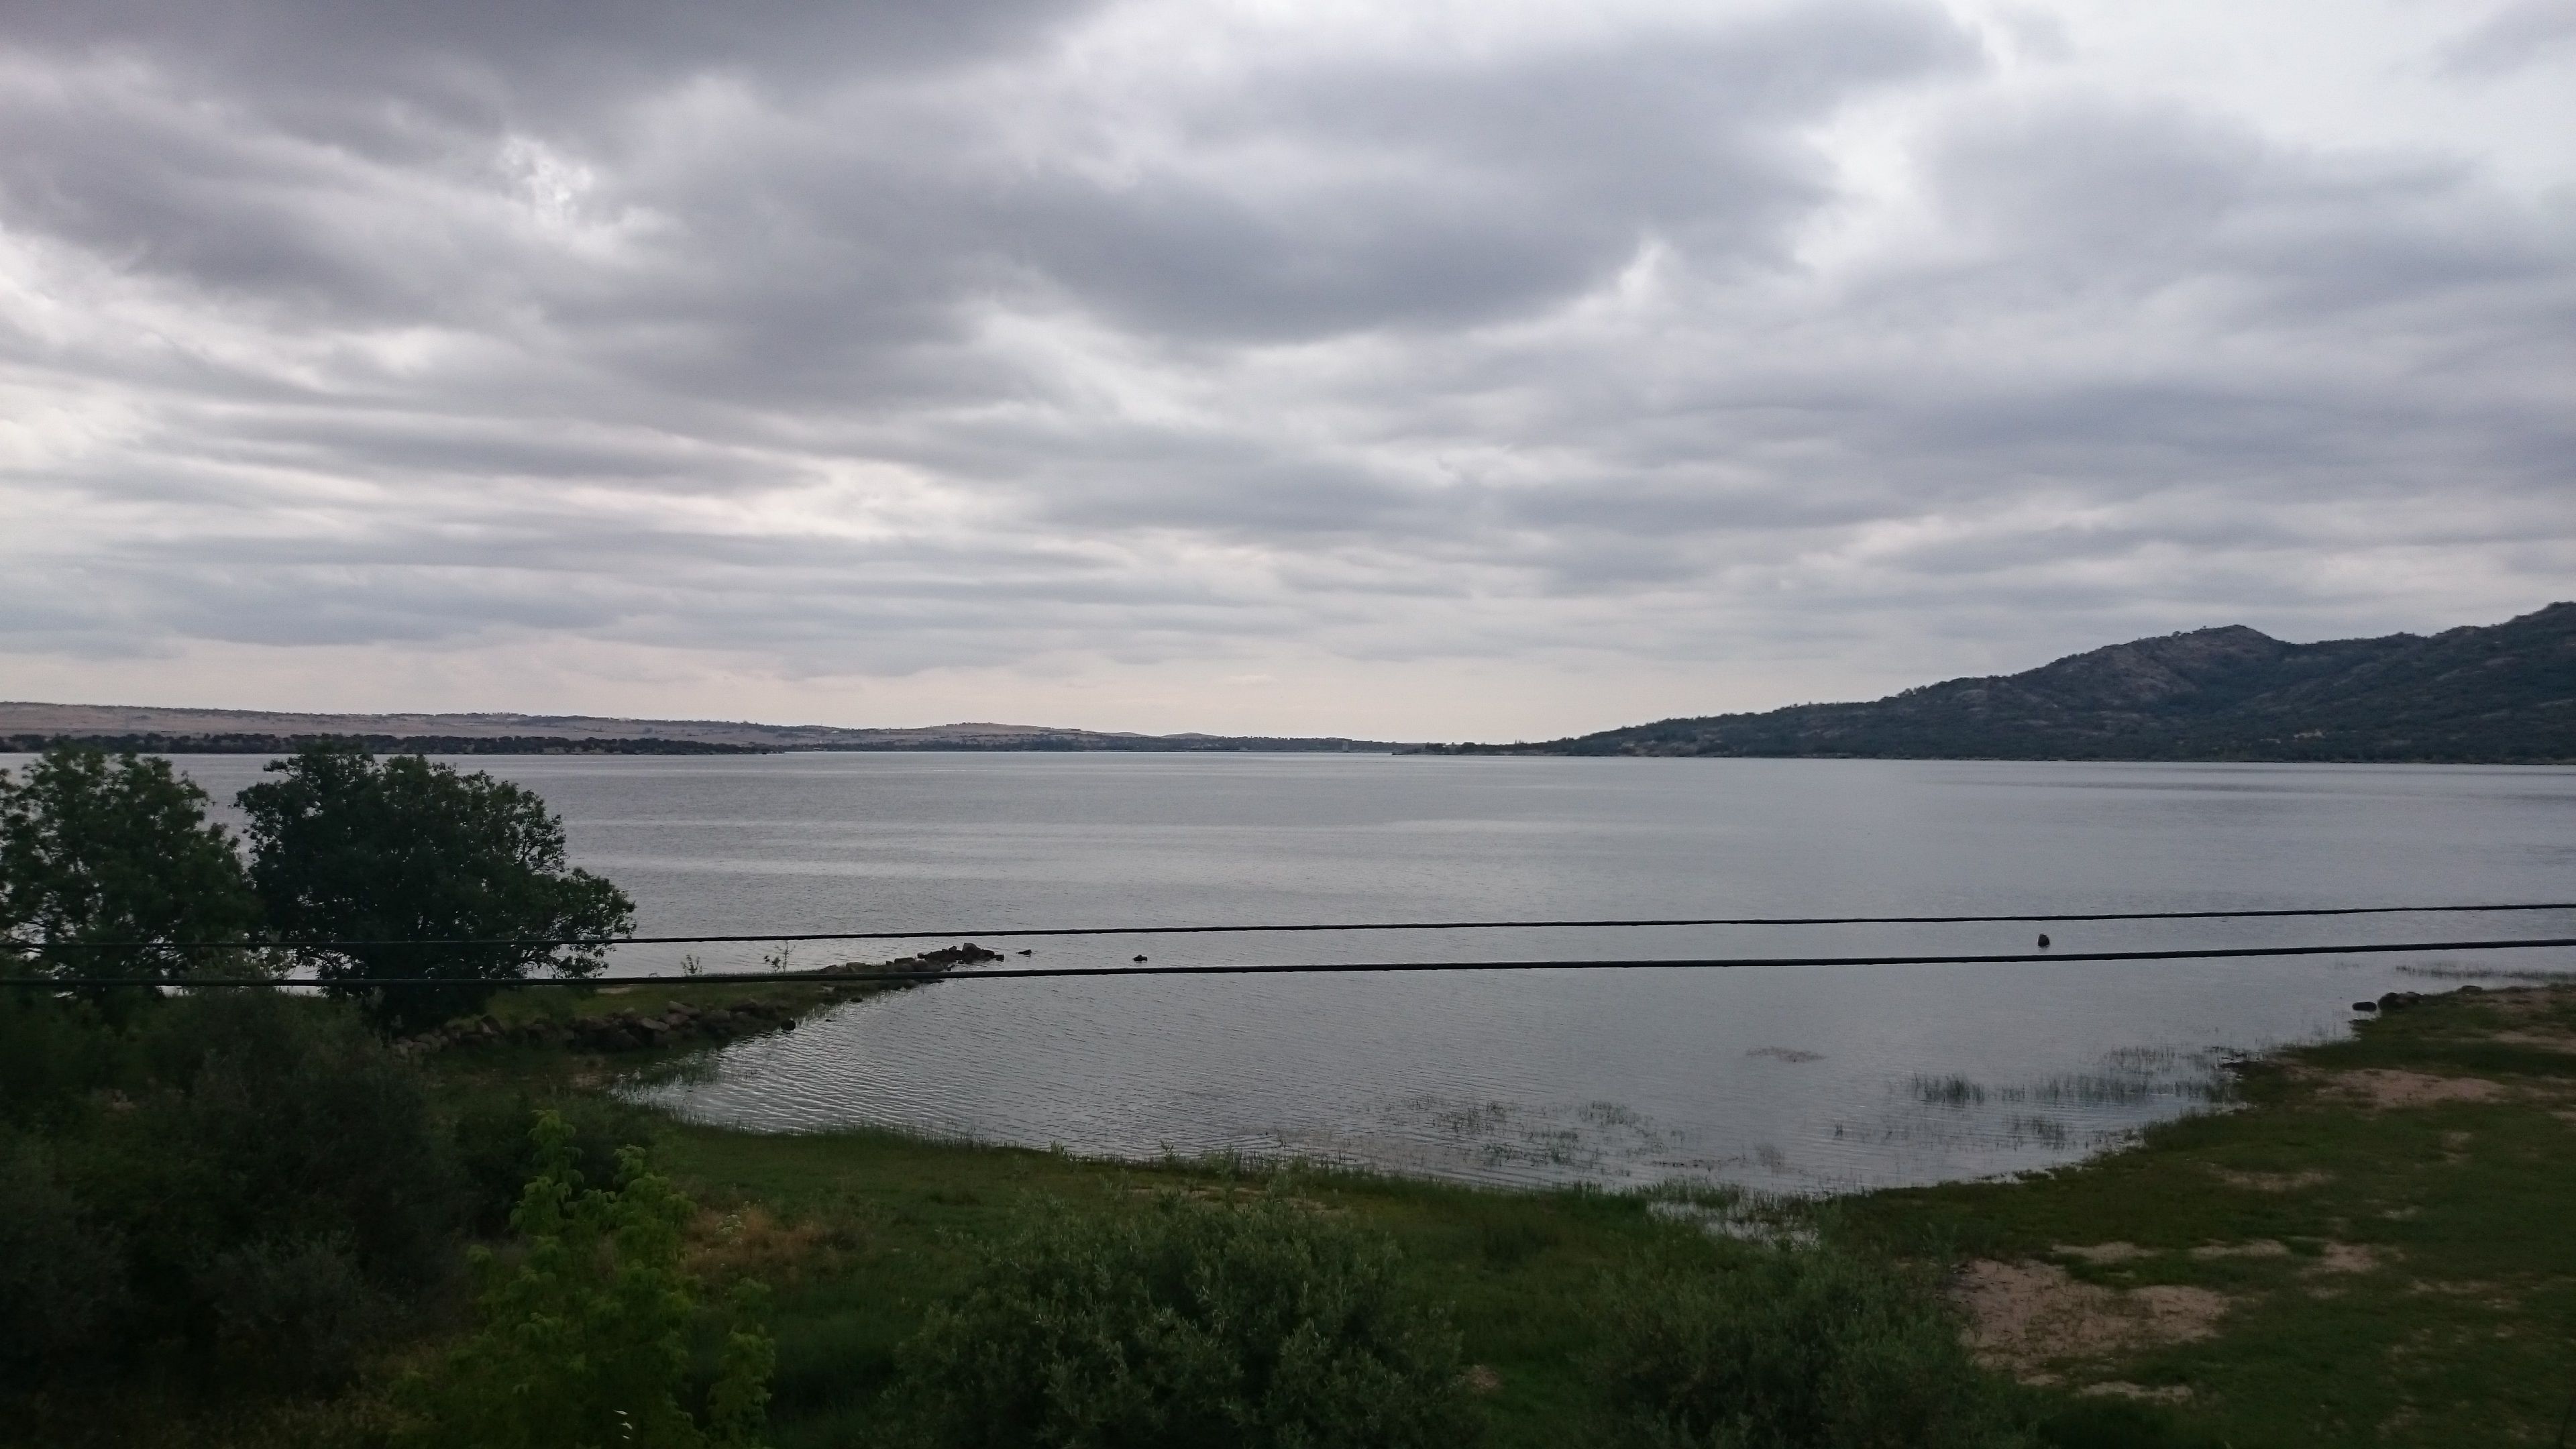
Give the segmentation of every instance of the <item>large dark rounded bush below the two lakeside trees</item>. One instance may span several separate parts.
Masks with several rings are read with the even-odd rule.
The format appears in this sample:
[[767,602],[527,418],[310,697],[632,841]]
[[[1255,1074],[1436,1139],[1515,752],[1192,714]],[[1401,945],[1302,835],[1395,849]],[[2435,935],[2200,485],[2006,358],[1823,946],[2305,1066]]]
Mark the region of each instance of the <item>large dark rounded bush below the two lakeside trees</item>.
[[[149,1000],[116,1085],[54,1116],[54,1181],[111,1243],[100,1372],[234,1395],[343,1382],[451,1281],[461,1194],[412,1067],[348,1008]],[[59,1222],[59,1214],[54,1217]]]

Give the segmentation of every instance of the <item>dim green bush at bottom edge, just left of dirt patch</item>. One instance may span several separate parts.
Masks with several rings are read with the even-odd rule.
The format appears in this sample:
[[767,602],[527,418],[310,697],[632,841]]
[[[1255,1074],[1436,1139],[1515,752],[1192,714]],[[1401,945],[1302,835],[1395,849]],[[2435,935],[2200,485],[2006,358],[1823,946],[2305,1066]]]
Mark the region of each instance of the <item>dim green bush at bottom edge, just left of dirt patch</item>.
[[1692,1449],[2017,1444],[1935,1284],[1834,1248],[1672,1250],[1607,1302],[1625,1436]]

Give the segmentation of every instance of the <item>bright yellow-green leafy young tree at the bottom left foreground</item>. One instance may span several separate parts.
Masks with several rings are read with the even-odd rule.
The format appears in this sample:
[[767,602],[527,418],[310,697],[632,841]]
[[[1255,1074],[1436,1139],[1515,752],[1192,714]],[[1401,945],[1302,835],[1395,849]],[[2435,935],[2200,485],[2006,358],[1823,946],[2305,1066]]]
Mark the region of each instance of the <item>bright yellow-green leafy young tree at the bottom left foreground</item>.
[[618,1152],[618,1186],[582,1191],[574,1132],[554,1111],[533,1132],[538,1171],[510,1225],[526,1238],[515,1271],[487,1250],[482,1330],[435,1379],[407,1385],[422,1449],[714,1449],[752,1446],[768,1415],[775,1343],[752,1325],[760,1287],[739,1284],[706,1413],[680,1397],[698,1284],[680,1263],[693,1212]]

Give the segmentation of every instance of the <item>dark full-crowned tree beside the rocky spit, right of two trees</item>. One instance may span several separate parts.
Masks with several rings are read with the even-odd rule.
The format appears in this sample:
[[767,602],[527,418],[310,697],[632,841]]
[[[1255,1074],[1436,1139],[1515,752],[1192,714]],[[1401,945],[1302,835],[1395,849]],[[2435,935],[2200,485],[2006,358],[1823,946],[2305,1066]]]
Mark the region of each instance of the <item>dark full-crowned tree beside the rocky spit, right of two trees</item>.
[[634,931],[626,892],[564,864],[564,825],[536,792],[420,755],[376,761],[355,743],[307,745],[268,768],[281,779],[240,804],[258,851],[250,879],[278,936],[363,941],[299,951],[345,990],[456,982],[374,987],[386,1029],[479,1011],[497,982],[533,969],[592,975]]

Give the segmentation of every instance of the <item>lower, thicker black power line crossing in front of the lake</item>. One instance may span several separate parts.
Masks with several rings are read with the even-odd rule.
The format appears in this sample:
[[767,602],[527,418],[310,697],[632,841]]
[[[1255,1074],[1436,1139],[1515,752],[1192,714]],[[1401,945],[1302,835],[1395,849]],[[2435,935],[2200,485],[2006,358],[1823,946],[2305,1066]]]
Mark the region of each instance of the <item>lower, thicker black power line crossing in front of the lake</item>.
[[842,985],[842,982],[992,982],[1046,977],[1257,977],[1257,975],[1396,975],[1396,972],[1638,972],[1638,969],[1754,969],[1754,967],[1976,967],[2048,962],[2218,962],[2241,957],[2388,957],[2427,951],[2535,951],[2576,946],[2576,936],[2519,941],[2362,941],[2354,946],[2210,946],[2187,951],[2012,951],[1973,957],[1685,957],[1685,959],[1607,959],[1607,962],[1301,962],[1301,964],[1216,964],[1216,967],[1005,967],[994,972],[701,972],[696,977],[0,977],[13,985],[111,987],[314,987],[348,985],[361,990],[389,985]]

